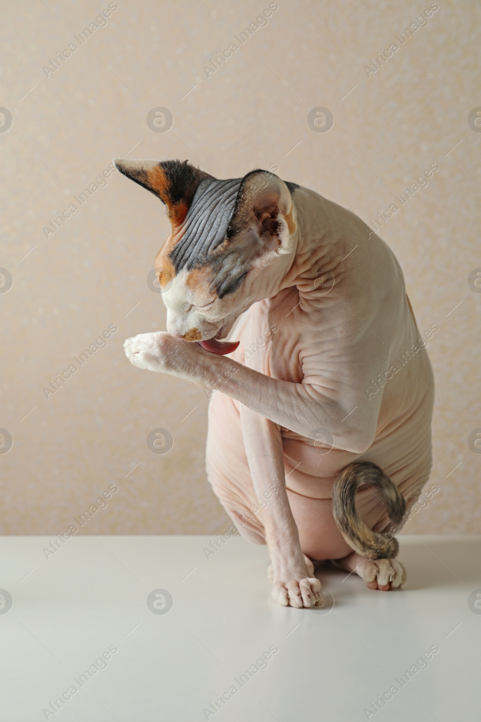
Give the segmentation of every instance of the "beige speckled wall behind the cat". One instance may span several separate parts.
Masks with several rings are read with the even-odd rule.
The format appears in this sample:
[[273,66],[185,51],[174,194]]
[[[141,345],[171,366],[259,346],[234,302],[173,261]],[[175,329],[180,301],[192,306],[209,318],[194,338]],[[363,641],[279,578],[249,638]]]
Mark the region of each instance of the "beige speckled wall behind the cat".
[[[0,105],[0,453],[3,534],[57,534],[101,492],[118,492],[81,534],[206,534],[229,521],[204,470],[206,393],[132,367],[123,341],[165,328],[147,285],[169,232],[164,207],[114,173],[55,233],[50,219],[80,204],[112,157],[188,158],[219,178],[278,165],[367,222],[431,164],[439,171],[385,224],[405,272],[436,375],[431,484],[439,492],[410,533],[480,531],[481,266],[480,20],[476,2],[439,0],[370,77],[379,51],[431,2],[279,0],[278,10],[207,77],[203,66],[255,22],[263,0],[118,0],[105,27],[74,36],[107,3],[2,2]],[[262,22],[262,21],[260,21]],[[55,72],[50,58],[79,47]],[[328,108],[330,131],[309,128]],[[167,132],[147,124],[167,108]],[[480,108],[481,110],[481,108]],[[2,121],[2,118],[4,120]],[[56,393],[43,387],[110,325],[107,346]],[[146,437],[172,433],[169,453]],[[480,430],[481,432],[481,430]],[[3,432],[4,433],[4,432]],[[476,432],[475,432],[476,433]],[[5,451],[9,436],[4,433]],[[1,441],[1,438],[0,438]],[[470,448],[471,446],[471,448]]]

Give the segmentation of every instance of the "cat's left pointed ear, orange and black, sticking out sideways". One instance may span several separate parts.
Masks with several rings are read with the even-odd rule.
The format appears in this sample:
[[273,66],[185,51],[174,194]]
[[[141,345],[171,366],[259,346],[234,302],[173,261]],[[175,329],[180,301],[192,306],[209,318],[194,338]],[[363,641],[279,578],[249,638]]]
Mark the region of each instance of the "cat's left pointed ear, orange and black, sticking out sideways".
[[167,206],[176,230],[184,221],[200,181],[212,178],[187,160],[128,160],[114,158],[115,167],[131,181],[154,193]]

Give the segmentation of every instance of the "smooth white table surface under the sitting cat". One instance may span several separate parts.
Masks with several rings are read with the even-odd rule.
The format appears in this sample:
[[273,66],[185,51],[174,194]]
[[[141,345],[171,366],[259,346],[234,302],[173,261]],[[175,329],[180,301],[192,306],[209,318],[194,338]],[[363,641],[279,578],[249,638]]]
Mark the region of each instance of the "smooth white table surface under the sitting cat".
[[[468,606],[481,591],[481,537],[402,536],[403,591],[321,570],[327,614],[277,606],[267,550],[236,536],[207,559],[213,538],[74,537],[47,560],[52,537],[1,537],[0,588],[13,599],[0,613],[1,722],[45,720],[71,684],[48,719],[355,722],[393,684],[371,720],[481,719],[481,614]],[[159,588],[174,600],[167,614],[146,604]],[[237,684],[271,645],[268,666]],[[432,645],[428,668],[397,684]],[[76,684],[110,646],[107,667]],[[207,716],[231,685],[237,694]]]

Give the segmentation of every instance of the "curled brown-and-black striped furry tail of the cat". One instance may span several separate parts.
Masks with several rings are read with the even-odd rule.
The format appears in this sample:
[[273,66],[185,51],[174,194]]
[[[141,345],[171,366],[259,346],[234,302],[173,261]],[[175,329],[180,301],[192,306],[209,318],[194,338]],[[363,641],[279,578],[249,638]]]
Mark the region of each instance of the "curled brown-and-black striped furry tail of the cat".
[[345,467],[332,489],[332,511],[337,526],[349,546],[363,557],[394,559],[399,549],[397,539],[371,531],[358,514],[356,492],[361,484],[380,492],[392,523],[402,525],[406,503],[400,490],[379,466],[371,461],[357,461]]

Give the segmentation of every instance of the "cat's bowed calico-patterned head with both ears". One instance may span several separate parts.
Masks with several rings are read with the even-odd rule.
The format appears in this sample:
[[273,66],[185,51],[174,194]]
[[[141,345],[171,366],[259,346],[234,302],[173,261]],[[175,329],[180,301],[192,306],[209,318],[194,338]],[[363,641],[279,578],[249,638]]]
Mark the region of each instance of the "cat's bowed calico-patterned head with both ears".
[[172,233],[155,267],[170,334],[224,338],[252,303],[278,291],[296,248],[294,184],[263,170],[219,181],[180,160],[114,163],[167,206]]

